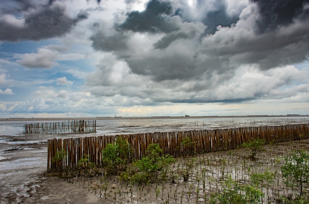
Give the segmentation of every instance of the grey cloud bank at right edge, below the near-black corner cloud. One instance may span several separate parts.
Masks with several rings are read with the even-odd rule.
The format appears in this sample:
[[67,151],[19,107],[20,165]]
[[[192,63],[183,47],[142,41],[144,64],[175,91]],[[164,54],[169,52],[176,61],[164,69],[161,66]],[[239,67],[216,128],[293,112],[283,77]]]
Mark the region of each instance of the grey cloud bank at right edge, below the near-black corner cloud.
[[301,20],[259,35],[253,30],[225,28],[218,32],[217,38],[204,38],[207,43],[199,54],[226,56],[231,59],[231,64],[255,64],[262,70],[300,63],[309,56],[308,23],[308,20]]

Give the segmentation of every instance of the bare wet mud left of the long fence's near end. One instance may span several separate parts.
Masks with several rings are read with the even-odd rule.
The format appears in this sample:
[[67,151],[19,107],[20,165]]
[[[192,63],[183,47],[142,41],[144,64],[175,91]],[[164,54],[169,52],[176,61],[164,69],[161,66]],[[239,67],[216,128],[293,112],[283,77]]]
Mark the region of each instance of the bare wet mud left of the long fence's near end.
[[6,139],[0,143],[0,204],[101,203],[94,193],[46,174],[46,142]]

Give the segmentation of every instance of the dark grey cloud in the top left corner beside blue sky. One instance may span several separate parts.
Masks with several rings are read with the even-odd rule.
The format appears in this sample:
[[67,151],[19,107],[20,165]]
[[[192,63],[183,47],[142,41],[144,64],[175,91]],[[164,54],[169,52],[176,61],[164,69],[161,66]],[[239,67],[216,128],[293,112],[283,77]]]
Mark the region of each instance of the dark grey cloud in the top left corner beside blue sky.
[[[25,5],[28,5],[27,8],[29,9],[33,4],[18,3],[16,10],[13,11],[13,8],[11,8],[11,12],[21,11],[20,8],[22,5],[23,8],[26,8]],[[48,5],[36,6],[35,10],[21,11],[19,15],[23,14],[24,22],[13,16],[2,14],[0,17],[0,40],[38,41],[59,37],[69,32],[78,21],[88,17],[86,12],[81,11],[77,14],[77,17],[72,18],[68,15],[65,5],[56,1],[50,1]]]

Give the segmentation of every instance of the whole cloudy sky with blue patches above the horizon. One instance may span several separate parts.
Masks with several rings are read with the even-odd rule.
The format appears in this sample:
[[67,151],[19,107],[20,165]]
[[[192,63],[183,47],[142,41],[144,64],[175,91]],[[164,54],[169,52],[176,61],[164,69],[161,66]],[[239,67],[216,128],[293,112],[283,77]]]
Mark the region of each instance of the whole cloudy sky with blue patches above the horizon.
[[309,114],[309,0],[0,0],[0,118]]

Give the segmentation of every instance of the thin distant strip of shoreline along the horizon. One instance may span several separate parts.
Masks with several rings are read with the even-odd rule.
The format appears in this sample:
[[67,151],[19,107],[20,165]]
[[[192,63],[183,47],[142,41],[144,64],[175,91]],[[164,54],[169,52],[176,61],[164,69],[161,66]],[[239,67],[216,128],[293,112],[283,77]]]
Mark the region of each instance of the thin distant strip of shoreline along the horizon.
[[148,120],[201,118],[278,118],[309,117],[309,115],[247,115],[247,116],[149,116],[149,117],[65,117],[65,118],[0,118],[0,121],[72,121],[72,120]]

